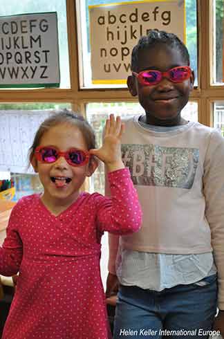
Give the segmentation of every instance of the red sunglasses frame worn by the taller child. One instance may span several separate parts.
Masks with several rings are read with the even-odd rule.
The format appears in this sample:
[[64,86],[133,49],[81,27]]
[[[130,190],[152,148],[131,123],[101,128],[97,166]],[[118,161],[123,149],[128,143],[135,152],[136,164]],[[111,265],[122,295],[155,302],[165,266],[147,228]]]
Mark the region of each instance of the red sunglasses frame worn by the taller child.
[[[187,69],[187,77],[185,80],[189,79],[189,77],[192,75],[192,68],[190,68],[189,66],[177,66],[177,67],[173,67],[173,68],[170,68],[167,72],[160,72],[158,71],[157,69],[147,69],[145,71],[141,71],[139,73],[136,73],[136,72],[132,72],[132,75],[134,75],[135,77],[137,77],[138,81],[140,82],[140,84],[144,85],[144,86],[153,86],[155,84],[159,84],[160,81],[166,77],[169,81],[171,82],[174,82],[174,83],[181,83],[181,82],[184,82],[185,80],[174,80],[174,79],[171,79],[170,77],[170,72],[173,71],[174,69],[178,69],[178,68],[186,68]],[[155,81],[155,82],[145,82],[143,77],[142,77],[142,74],[143,73],[146,73],[146,72],[156,72],[160,75],[160,80],[158,81]]]

